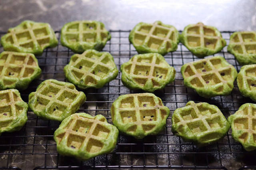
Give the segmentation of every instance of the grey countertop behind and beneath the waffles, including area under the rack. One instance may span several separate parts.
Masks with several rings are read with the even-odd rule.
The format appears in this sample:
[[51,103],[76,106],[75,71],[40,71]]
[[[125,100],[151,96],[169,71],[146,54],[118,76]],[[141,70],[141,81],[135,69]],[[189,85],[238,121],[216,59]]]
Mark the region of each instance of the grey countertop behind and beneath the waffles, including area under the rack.
[[[39,0],[2,0],[0,1],[0,31],[18,25],[26,19],[48,22],[54,30],[59,30],[66,22],[73,20],[99,20],[107,29],[130,30],[140,21],[154,22],[161,20],[174,25],[178,30],[196,22],[204,22],[216,26],[219,30],[256,30],[256,1],[253,0],[222,0],[219,2],[175,2],[175,1],[39,1]],[[137,52],[128,42],[129,32],[111,32],[112,39],[104,48],[113,56],[115,63],[120,65]],[[2,36],[1,34],[0,36]],[[59,38],[59,33],[56,33]],[[230,33],[222,33],[227,40]],[[227,47],[217,55],[224,56],[229,63],[239,71],[240,66],[234,56],[227,53]],[[0,52],[2,51],[0,47]],[[28,94],[44,79],[64,81],[63,67],[68,63],[73,53],[66,47],[58,45],[47,49],[42,56],[37,56],[42,69],[42,77],[33,81],[30,87],[22,91],[22,99],[28,101]],[[217,105],[225,117],[228,117],[246,102],[253,102],[242,97],[235,85],[232,95],[203,99],[191,89],[184,87],[180,67],[187,62],[197,60],[186,47],[179,44],[178,50],[168,53],[166,61],[176,69],[174,83],[167,85],[163,91],[155,94],[160,97],[171,110],[166,129],[157,136],[149,136],[144,140],[120,135],[118,145],[112,154],[98,156],[85,162],[73,158],[58,156],[56,144],[52,138],[59,123],[38,119],[32,111],[28,112],[28,123],[22,130],[14,133],[4,133],[0,136],[0,167],[17,166],[22,169],[33,169],[36,166],[225,166],[237,169],[242,166],[255,165],[255,152],[246,152],[235,142],[231,130],[217,144],[198,148],[190,142],[174,136],[171,132],[171,116],[178,107],[183,107],[189,100],[206,101]],[[102,89],[86,90],[86,103],[80,112],[91,115],[102,114],[111,123],[110,107],[112,102],[124,93],[130,91],[122,85],[120,73],[117,79],[111,81]],[[207,152],[207,153],[205,153]],[[33,153],[33,154],[31,154]],[[56,167],[55,167],[56,168]]]

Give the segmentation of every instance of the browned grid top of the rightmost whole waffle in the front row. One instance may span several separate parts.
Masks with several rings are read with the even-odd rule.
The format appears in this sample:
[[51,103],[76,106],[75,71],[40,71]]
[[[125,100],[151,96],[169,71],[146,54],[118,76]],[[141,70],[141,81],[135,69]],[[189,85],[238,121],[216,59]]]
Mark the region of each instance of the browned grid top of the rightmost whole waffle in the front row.
[[196,140],[198,139],[200,144],[218,140],[220,138],[219,128],[225,128],[224,121],[226,121],[220,110],[191,101],[186,107],[180,108],[172,119],[174,119],[172,122],[175,124],[176,130],[182,127],[188,128],[190,132],[186,130],[185,134],[181,132],[182,135],[185,137],[196,136]]

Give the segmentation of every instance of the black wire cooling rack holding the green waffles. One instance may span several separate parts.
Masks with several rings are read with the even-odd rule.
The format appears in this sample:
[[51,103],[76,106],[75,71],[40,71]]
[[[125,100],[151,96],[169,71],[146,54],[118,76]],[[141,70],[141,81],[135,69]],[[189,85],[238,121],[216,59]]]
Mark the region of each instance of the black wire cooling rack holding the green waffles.
[[[128,41],[130,31],[110,31],[112,38],[104,47],[110,52],[120,70],[122,63],[127,62],[137,54]],[[5,33],[0,33],[0,36]],[[223,38],[229,43],[232,32],[222,32]],[[56,32],[60,40],[60,32]],[[3,51],[0,47],[0,51]],[[33,81],[28,89],[20,91],[21,97],[28,102],[28,95],[36,91],[36,87],[46,79],[66,81],[63,68],[74,53],[59,45],[44,50],[37,56],[42,69],[39,79]],[[234,56],[227,53],[227,47],[215,55],[223,56],[239,71],[240,66]],[[170,109],[170,117],[163,132],[155,136],[147,136],[136,140],[120,134],[115,150],[106,155],[97,156],[88,161],[78,161],[71,157],[60,156],[56,151],[53,134],[60,123],[38,119],[32,111],[28,111],[28,122],[18,132],[4,133],[0,136],[0,169],[90,169],[90,168],[185,168],[185,169],[248,169],[256,168],[256,153],[247,152],[242,145],[235,142],[231,130],[216,144],[198,148],[191,142],[174,136],[171,132],[171,117],[175,109],[184,107],[190,100],[208,102],[220,108],[226,118],[234,114],[244,103],[252,103],[242,97],[235,83],[231,95],[204,99],[192,89],[184,86],[180,68],[184,63],[198,60],[181,43],[175,52],[164,56],[166,61],[175,68],[176,79],[163,90],[154,94],[160,97]],[[80,90],[80,89],[78,89]],[[79,112],[90,115],[102,114],[112,123],[110,107],[118,96],[129,93],[142,93],[140,90],[130,90],[122,84],[121,73],[118,77],[101,89],[84,91],[87,97]]]

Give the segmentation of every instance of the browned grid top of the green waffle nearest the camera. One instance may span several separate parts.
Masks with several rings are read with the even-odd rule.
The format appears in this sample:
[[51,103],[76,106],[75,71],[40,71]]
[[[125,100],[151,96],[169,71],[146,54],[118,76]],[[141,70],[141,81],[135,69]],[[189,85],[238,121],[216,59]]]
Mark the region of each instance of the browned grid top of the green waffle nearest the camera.
[[[76,150],[85,154],[100,154],[103,148],[112,144],[108,140],[110,134],[113,135],[112,128],[106,122],[106,119],[99,115],[98,117],[88,118],[80,115],[72,115],[69,122],[63,129],[58,129],[56,135],[57,142],[67,144],[62,150]],[[109,142],[109,143],[108,143]]]

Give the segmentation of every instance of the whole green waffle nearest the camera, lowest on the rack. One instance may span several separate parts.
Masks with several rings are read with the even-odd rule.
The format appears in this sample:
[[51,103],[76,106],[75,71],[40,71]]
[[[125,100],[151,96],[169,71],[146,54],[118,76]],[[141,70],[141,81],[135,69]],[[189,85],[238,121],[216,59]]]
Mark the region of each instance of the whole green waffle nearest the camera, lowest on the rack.
[[54,132],[54,140],[59,154],[88,160],[112,152],[118,134],[118,129],[102,115],[75,113],[62,121]]

